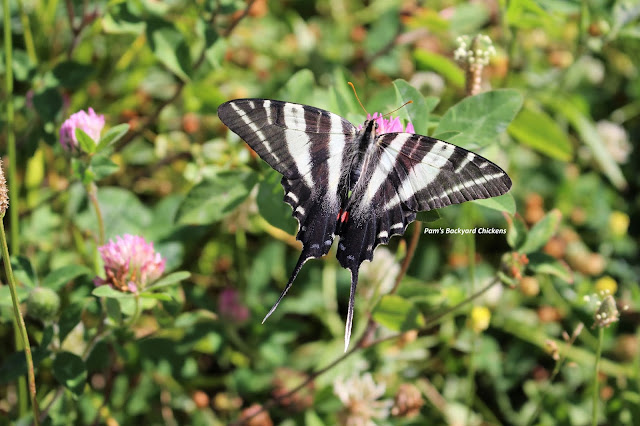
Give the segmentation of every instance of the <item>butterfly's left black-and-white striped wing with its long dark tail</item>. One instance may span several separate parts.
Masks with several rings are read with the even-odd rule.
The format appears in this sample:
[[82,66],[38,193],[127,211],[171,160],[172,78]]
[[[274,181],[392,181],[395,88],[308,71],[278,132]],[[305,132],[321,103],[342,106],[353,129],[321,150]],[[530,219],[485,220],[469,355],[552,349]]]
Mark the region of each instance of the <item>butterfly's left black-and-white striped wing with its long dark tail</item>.
[[328,253],[340,211],[338,185],[347,145],[357,129],[342,117],[319,108],[267,99],[236,99],[218,108],[220,120],[284,177],[284,200],[298,220],[303,249],[287,286],[267,316],[291,287],[302,265]]

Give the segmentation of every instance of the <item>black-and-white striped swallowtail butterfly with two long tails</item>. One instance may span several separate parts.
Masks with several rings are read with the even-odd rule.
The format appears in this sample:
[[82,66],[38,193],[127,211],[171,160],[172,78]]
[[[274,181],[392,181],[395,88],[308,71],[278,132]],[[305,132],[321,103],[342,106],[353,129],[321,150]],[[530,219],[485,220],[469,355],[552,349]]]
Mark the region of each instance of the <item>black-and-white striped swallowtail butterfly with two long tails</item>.
[[329,252],[351,271],[345,331],[349,346],[358,270],[378,244],[404,234],[416,213],[502,195],[511,179],[463,148],[413,133],[378,134],[375,120],[359,130],[319,108],[269,99],[235,99],[220,120],[283,175],[284,201],[298,220],[302,253],[278,307],[302,265]]

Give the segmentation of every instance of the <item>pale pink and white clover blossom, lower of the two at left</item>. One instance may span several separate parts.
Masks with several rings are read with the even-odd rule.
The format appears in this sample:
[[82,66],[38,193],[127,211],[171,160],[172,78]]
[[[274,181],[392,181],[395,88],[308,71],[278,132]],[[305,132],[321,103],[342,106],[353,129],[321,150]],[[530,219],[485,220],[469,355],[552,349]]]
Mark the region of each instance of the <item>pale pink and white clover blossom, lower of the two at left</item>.
[[96,286],[110,285],[116,290],[137,293],[162,275],[166,259],[156,253],[153,243],[125,234],[98,247],[104,262],[105,279],[96,277]]

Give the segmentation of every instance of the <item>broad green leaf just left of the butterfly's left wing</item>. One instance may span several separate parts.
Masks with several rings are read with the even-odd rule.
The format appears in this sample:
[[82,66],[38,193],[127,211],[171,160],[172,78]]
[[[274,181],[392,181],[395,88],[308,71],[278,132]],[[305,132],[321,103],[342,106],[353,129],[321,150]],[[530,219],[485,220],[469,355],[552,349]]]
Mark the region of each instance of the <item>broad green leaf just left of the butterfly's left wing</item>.
[[206,225],[221,220],[249,196],[257,180],[253,172],[231,170],[202,181],[185,197],[176,221]]

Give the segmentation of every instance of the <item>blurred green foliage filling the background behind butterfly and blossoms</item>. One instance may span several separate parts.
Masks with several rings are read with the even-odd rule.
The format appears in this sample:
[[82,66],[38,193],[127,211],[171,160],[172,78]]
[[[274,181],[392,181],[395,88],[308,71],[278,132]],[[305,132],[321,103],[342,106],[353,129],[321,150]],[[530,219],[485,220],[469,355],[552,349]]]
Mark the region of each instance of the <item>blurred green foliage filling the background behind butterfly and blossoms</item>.
[[[5,0],[3,34],[12,38],[0,74],[6,83],[11,67],[13,88],[3,84],[0,141],[5,173],[15,166],[5,218],[11,262],[21,302],[47,287],[61,303],[44,322],[23,309],[45,424],[225,424],[255,403],[276,424],[334,424],[348,412],[336,380],[366,372],[386,385],[384,399],[410,383],[425,402],[417,417],[379,424],[633,424],[639,16],[628,0]],[[479,33],[497,55],[483,73],[485,93],[466,98],[453,52],[458,36]],[[331,254],[307,263],[261,324],[298,257],[296,223],[277,173],[216,110],[233,98],[274,98],[360,123],[347,81],[370,112],[412,100],[394,114],[497,162],[514,185],[498,200],[441,209],[388,253],[378,249],[358,291],[358,342],[325,371],[342,356],[349,274]],[[115,130],[82,165],[58,130],[89,107]],[[167,259],[168,276],[141,299],[139,318],[131,297],[92,294],[101,273],[92,182],[105,239],[142,235]],[[386,272],[407,251],[408,271],[387,294],[395,277]],[[470,305],[458,305],[496,277],[502,284],[472,301],[491,312],[488,328],[474,332]],[[607,277],[621,319],[600,333],[584,297]],[[236,292],[246,319],[221,314],[224,289]],[[12,321],[2,285],[0,422],[28,424]],[[563,332],[580,323],[568,344]],[[274,399],[318,371],[293,403]]]

